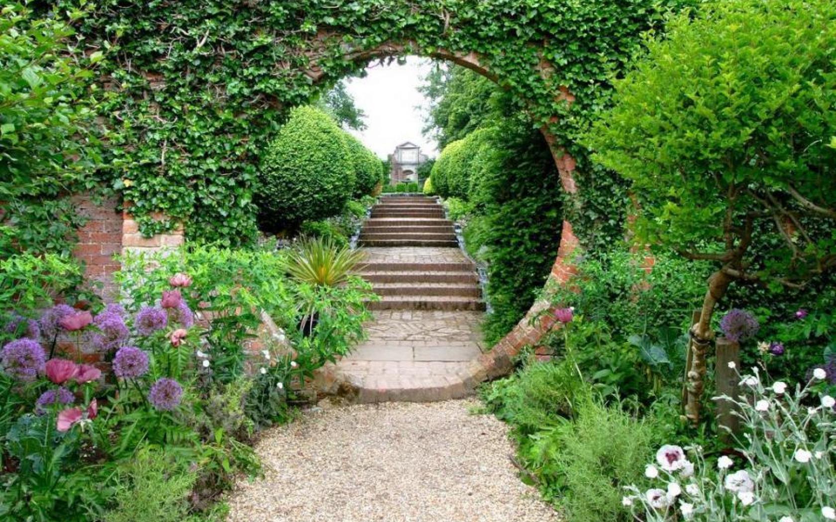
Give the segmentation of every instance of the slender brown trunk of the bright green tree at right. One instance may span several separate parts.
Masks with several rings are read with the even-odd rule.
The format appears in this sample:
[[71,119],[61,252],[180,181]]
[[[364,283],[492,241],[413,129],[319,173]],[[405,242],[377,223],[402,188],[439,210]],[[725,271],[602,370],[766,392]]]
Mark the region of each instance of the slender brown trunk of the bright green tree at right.
[[705,389],[706,380],[706,352],[714,340],[714,332],[711,330],[711,316],[714,308],[722,296],[726,295],[729,285],[734,278],[722,270],[711,274],[708,278],[708,290],[702,300],[702,311],[700,320],[691,327],[691,342],[688,349],[691,350],[691,367],[688,369],[686,387],[688,400],[685,405],[685,415],[691,423],[700,422],[700,406],[702,392]]

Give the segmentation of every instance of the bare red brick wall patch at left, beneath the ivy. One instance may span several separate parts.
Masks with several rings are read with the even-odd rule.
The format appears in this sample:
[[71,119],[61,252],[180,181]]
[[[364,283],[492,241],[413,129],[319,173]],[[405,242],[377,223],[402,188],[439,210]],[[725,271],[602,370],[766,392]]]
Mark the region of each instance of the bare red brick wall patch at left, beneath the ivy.
[[79,215],[87,223],[79,229],[79,244],[73,255],[84,261],[84,275],[104,285],[104,297],[115,292],[112,275],[120,269],[113,256],[122,251],[122,213],[116,211],[118,201],[110,198],[96,205],[87,195],[74,196]]

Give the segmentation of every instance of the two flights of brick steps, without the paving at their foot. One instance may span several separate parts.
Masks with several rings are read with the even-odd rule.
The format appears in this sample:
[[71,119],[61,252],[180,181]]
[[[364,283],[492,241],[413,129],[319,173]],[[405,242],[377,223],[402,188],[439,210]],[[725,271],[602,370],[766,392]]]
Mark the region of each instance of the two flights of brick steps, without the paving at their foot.
[[358,244],[366,252],[359,275],[381,297],[372,310],[485,310],[476,266],[435,198],[382,196]]

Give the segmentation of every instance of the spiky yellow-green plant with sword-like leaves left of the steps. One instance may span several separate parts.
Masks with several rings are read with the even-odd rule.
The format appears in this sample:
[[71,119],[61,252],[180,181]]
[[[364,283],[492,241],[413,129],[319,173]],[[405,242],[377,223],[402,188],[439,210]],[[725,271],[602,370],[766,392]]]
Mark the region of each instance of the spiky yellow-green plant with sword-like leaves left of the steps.
[[314,286],[337,286],[345,282],[364,254],[347,246],[335,246],[329,239],[306,238],[288,254],[288,274]]

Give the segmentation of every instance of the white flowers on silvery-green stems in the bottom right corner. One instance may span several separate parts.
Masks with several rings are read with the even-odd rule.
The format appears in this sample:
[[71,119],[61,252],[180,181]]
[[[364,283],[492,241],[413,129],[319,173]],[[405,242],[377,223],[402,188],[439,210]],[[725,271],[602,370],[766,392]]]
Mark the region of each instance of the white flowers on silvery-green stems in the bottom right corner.
[[718,398],[731,401],[745,425],[735,453],[712,468],[699,447],[689,449],[690,460],[681,447],[663,446],[645,469],[662,485],[630,486],[624,505],[636,519],[654,522],[836,520],[836,399],[817,393],[826,377],[816,368],[792,390],[782,381],[767,386],[754,368],[741,378],[742,397]]

